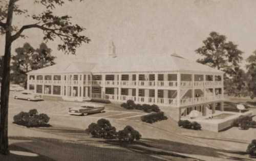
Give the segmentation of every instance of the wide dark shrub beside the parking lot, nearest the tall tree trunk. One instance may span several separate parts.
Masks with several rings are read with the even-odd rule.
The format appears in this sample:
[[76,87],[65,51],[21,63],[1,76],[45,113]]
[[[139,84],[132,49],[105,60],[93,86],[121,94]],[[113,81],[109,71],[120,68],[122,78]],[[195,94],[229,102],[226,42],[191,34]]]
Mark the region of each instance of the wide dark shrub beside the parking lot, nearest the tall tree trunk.
[[46,114],[39,114],[37,110],[33,109],[29,112],[20,112],[13,117],[13,123],[26,127],[46,127],[50,117]]

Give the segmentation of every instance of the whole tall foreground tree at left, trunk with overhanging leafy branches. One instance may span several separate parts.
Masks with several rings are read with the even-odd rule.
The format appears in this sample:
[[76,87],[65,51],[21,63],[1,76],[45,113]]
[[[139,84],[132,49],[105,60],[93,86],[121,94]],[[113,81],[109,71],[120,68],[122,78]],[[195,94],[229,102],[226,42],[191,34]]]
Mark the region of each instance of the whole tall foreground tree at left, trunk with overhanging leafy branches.
[[[76,48],[82,43],[89,43],[90,39],[82,32],[85,30],[78,24],[71,23],[68,15],[56,15],[53,10],[66,2],[75,0],[34,0],[34,7],[39,7],[39,14],[29,14],[29,9],[19,6],[20,0],[4,0],[0,6],[0,32],[5,35],[5,53],[3,60],[3,78],[1,87],[1,110],[0,110],[0,153],[9,154],[8,149],[8,103],[10,86],[10,60],[11,46],[18,38],[27,38],[24,31],[37,29],[41,31],[45,42],[59,39],[58,49],[65,53],[75,54]],[[80,0],[81,1],[81,0]],[[31,1],[30,1],[31,2]],[[40,9],[40,10],[39,10]],[[35,10],[33,8],[33,10]],[[64,12],[65,13],[65,12]],[[13,25],[13,19],[30,19],[31,23],[21,26]],[[19,23],[18,23],[19,24]],[[37,38],[34,38],[37,39]]]

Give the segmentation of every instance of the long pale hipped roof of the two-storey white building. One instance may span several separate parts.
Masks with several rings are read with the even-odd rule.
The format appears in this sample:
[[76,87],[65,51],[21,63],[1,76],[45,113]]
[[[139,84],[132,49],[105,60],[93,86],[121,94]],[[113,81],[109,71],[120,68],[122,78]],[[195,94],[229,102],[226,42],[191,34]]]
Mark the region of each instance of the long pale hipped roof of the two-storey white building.
[[66,65],[54,65],[29,72],[29,74],[40,73],[84,73],[84,72],[211,72],[223,73],[197,62],[190,61],[176,54],[169,56],[128,56],[116,58],[99,59],[97,63],[74,62]]

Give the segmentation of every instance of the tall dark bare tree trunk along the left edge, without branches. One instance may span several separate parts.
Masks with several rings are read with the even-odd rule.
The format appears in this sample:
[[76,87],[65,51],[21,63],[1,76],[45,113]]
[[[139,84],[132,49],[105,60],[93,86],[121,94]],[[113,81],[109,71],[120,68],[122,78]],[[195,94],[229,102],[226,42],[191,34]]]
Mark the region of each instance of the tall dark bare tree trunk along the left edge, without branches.
[[12,15],[14,0],[9,1],[6,21],[5,55],[3,61],[3,79],[1,86],[1,109],[0,109],[0,153],[9,154],[8,149],[8,104],[10,88],[10,60],[12,45]]

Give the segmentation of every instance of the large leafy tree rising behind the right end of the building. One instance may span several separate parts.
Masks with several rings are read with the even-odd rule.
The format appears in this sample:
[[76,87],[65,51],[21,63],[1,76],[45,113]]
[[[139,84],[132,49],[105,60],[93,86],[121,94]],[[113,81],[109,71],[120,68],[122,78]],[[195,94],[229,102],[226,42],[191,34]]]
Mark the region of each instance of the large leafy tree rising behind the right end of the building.
[[196,53],[202,56],[197,62],[225,72],[226,91],[235,92],[236,96],[241,94],[245,89],[244,77],[242,76],[245,72],[239,65],[243,59],[243,52],[238,49],[238,45],[231,41],[227,42],[224,35],[211,32],[209,37],[203,40],[203,46],[196,49]]

